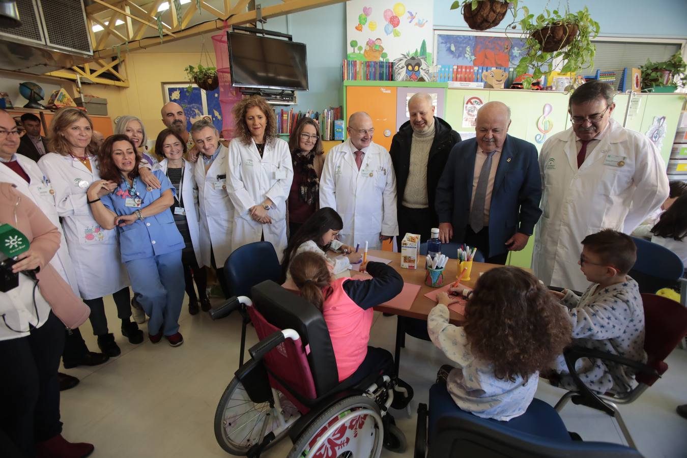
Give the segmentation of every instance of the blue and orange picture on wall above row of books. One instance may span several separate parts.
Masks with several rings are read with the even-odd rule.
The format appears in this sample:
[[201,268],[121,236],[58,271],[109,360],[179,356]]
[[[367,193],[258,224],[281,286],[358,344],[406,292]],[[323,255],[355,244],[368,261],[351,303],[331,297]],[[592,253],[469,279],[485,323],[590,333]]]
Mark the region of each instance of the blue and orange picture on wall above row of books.
[[518,38],[437,34],[437,65],[515,67],[525,43]]

